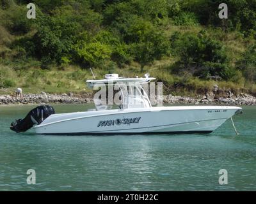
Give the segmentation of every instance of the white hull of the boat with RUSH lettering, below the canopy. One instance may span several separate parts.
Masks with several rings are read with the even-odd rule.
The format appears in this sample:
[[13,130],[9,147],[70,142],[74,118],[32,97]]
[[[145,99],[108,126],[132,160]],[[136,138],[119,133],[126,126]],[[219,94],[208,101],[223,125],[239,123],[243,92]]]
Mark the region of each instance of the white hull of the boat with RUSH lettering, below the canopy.
[[211,133],[241,108],[171,106],[50,115],[35,126],[41,135]]

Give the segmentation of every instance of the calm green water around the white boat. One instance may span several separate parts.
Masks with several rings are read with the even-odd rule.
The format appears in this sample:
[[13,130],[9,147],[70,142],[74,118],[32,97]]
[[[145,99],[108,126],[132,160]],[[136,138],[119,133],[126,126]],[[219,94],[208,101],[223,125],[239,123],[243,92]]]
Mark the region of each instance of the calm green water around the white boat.
[[[76,112],[92,105],[53,105]],[[256,190],[256,107],[210,135],[36,136],[10,122],[35,106],[0,106],[1,191]],[[28,169],[36,184],[26,182]],[[218,171],[228,171],[228,184]]]

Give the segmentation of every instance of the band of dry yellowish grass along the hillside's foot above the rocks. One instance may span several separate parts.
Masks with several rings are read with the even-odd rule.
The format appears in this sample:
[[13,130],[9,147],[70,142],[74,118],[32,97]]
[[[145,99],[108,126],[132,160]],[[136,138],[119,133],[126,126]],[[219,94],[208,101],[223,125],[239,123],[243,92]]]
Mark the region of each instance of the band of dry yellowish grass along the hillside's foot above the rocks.
[[[200,80],[191,75],[177,76],[171,73],[171,65],[175,59],[166,58],[155,61],[150,66],[145,66],[144,72],[140,72],[140,64],[132,62],[130,66],[116,69],[120,77],[143,77],[145,73],[155,77],[157,82],[163,82],[164,94],[180,96],[196,96],[212,91],[215,84],[220,89],[230,89],[232,92],[256,92],[256,86],[252,84],[239,84],[235,82],[216,82],[213,80]],[[94,68],[93,73],[97,79],[103,78],[108,69]],[[10,66],[0,64],[0,94],[14,94],[17,87],[21,87],[24,93],[40,93],[42,91],[52,94],[62,94],[68,92],[81,93],[92,92],[85,83],[92,79],[90,69],[81,69],[77,66],[67,66],[65,68],[52,67],[51,69],[40,69],[38,67],[27,69],[15,69]],[[3,88],[3,80],[11,80],[10,87]],[[8,85],[8,84],[7,84]]]

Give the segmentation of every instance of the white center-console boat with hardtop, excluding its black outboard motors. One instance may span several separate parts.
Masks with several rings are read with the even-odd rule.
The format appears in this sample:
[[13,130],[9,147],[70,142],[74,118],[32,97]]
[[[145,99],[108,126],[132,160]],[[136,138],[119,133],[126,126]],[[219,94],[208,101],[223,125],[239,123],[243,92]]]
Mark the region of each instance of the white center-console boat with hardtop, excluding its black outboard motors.
[[134,83],[136,94],[122,91],[121,105],[109,110],[108,105],[95,105],[87,112],[49,115],[36,125],[40,135],[113,135],[157,133],[211,133],[227,119],[241,112],[236,106],[152,106],[142,85],[155,78],[120,78],[107,75],[103,80],[86,81],[97,84],[128,85]]

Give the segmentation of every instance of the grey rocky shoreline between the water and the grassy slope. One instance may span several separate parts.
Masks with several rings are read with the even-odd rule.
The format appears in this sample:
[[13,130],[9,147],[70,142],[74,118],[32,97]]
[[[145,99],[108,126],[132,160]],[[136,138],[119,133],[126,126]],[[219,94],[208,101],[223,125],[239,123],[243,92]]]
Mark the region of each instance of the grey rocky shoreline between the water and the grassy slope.
[[[19,104],[48,104],[48,103],[63,103],[63,104],[84,104],[93,103],[93,96],[88,94],[74,95],[68,94],[23,94],[19,96],[1,95],[0,105],[19,105]],[[189,105],[256,105],[256,98],[249,94],[227,94],[216,98],[211,93],[206,93],[204,96],[196,96],[196,98],[188,96],[163,96],[163,103],[169,104],[189,104]]]

